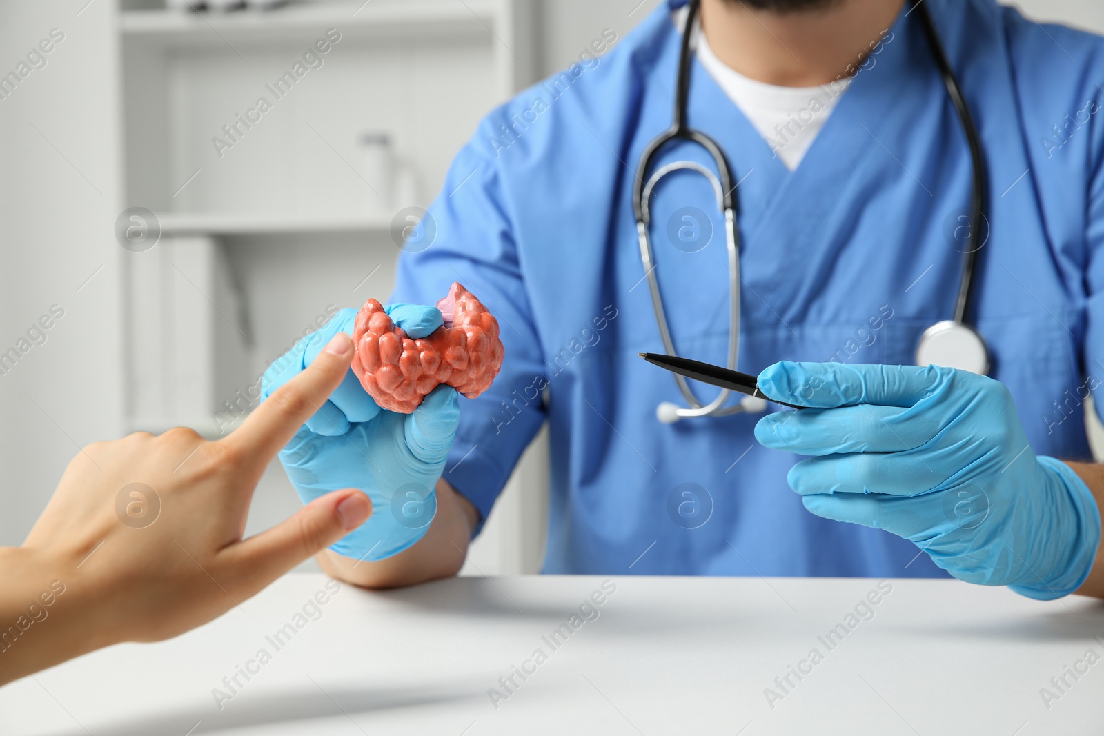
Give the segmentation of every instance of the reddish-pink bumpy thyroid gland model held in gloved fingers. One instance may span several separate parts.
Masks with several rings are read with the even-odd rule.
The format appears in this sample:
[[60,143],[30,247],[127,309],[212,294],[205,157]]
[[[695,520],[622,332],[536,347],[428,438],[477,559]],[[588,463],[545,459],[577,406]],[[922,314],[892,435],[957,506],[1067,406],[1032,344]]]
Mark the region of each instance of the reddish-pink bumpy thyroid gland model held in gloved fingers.
[[498,320],[459,284],[437,302],[444,327],[411,340],[375,299],[357,312],[352,372],[375,403],[410,414],[439,384],[475,398],[490,387],[502,367]]

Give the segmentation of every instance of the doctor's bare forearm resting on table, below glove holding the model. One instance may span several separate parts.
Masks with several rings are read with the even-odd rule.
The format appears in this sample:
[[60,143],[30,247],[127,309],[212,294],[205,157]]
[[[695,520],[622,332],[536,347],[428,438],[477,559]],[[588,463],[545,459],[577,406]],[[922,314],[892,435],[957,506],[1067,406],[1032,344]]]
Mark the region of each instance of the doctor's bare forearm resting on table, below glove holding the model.
[[437,515],[417,544],[376,563],[358,562],[327,550],[318,555],[318,564],[337,579],[365,588],[397,588],[449,577],[464,566],[478,519],[471,502],[438,480]]

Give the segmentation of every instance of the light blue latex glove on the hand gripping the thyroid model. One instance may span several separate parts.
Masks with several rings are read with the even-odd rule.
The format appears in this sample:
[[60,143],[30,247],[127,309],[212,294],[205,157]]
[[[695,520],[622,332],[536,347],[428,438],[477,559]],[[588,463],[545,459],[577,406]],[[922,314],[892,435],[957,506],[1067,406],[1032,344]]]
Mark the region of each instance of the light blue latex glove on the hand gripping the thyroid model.
[[[415,340],[442,326],[435,307],[391,305],[386,312]],[[335,334],[352,335],[355,317],[355,309],[342,309],[268,366],[262,401],[309,365]],[[459,418],[452,386],[434,388],[413,414],[396,414],[381,409],[350,370],[279,459],[304,503],[342,488],[359,488],[368,494],[372,515],[330,548],[346,557],[376,562],[425,535],[437,512],[434,487]]]

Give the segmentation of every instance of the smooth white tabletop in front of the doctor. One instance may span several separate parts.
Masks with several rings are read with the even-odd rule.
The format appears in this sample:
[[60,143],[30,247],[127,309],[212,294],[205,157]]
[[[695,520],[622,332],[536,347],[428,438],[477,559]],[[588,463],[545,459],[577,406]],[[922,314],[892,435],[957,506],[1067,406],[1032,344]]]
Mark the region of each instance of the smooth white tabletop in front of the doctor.
[[[341,586],[317,620],[296,621],[327,578],[289,575],[172,641],[115,647],[0,689],[0,734],[1104,733],[1104,661],[1076,664],[1087,650],[1104,657],[1104,606],[1093,600],[892,580],[872,618],[860,607],[869,620],[848,621],[878,580],[615,577],[598,618],[553,649],[542,637],[570,628],[604,579]],[[296,622],[280,649],[266,639]],[[849,622],[830,649],[821,641]],[[230,695],[223,678],[262,649],[270,660],[238,675],[220,710],[212,690]],[[546,661],[526,664],[537,649]],[[799,664],[813,649],[822,659]],[[807,674],[790,674],[784,693],[775,678],[788,665]],[[1050,679],[1066,665],[1087,672],[1065,674],[1060,693]],[[488,690],[508,694],[499,678],[514,666],[532,674],[514,674],[496,707]],[[767,687],[785,695],[773,708]],[[1042,687],[1060,695],[1049,707]]]

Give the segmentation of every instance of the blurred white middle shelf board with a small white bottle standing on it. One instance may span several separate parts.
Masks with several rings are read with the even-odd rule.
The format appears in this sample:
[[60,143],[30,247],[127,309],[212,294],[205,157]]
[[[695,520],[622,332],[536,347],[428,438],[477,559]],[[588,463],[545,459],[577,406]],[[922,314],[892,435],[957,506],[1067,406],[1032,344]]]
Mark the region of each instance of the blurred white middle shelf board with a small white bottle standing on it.
[[161,235],[273,235],[386,233],[391,217],[379,215],[287,215],[237,213],[159,214]]

